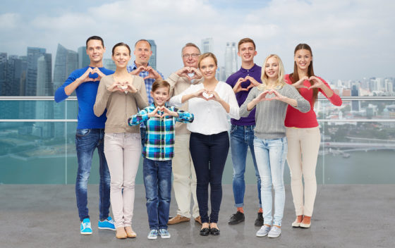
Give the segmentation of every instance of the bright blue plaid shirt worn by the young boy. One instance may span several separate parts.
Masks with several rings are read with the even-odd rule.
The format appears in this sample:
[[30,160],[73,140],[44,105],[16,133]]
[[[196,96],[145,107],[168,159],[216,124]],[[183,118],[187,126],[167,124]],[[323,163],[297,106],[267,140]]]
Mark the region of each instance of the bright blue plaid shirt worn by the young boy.
[[[176,121],[183,123],[193,122],[193,113],[182,111],[174,106],[165,105],[170,111],[178,113],[178,117],[165,116],[148,117],[148,113],[154,111],[154,104],[140,110],[128,119],[129,125],[138,125],[144,123],[147,127],[145,134],[145,145],[142,149],[142,155],[151,160],[165,161],[173,159],[174,156],[174,135]],[[159,111],[158,111],[159,113]],[[160,113],[159,113],[160,114]]]

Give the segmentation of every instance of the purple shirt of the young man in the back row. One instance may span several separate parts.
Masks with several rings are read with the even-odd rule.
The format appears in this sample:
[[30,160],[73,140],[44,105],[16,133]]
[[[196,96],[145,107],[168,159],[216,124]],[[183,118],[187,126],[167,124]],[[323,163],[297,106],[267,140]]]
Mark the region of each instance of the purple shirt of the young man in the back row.
[[[244,68],[240,68],[240,70],[236,71],[236,73],[233,73],[232,75],[230,75],[228,77],[228,79],[226,80],[226,83],[228,85],[231,85],[231,87],[233,88],[236,85],[237,80],[240,77],[254,77],[255,80],[257,80],[258,82],[261,82],[260,80],[260,74],[262,72],[262,67],[257,66],[257,64],[254,64],[254,66],[248,70],[244,69]],[[241,87],[246,88],[248,87],[248,85],[250,85],[250,80],[247,80],[245,82],[241,83]],[[237,92],[236,93],[236,99],[238,102],[238,106],[241,106],[245,99],[247,99],[248,97],[248,93],[250,93],[250,90],[253,88],[250,88],[247,91],[241,91],[241,92]],[[231,123],[232,125],[255,125],[255,108],[253,109],[253,111],[250,112],[250,115],[248,115],[248,117],[241,117],[240,120],[235,120],[235,119],[231,119]]]

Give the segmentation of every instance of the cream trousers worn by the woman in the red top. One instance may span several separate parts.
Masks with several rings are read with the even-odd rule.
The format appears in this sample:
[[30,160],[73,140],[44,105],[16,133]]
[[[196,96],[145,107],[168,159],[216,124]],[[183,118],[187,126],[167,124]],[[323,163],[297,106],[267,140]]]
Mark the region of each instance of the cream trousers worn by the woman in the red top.
[[[320,128],[286,128],[288,139],[287,161],[291,171],[291,190],[296,216],[312,216],[317,180],[318,150],[320,149]],[[305,202],[303,204],[303,183],[305,181]]]

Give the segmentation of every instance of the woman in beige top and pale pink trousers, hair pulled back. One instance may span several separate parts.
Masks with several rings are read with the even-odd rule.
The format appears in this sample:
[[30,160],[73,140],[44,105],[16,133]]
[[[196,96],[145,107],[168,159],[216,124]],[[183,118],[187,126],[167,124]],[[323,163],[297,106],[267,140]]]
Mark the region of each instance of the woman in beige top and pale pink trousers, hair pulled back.
[[[132,229],[135,199],[135,175],[141,153],[140,128],[130,127],[128,117],[147,106],[147,92],[142,77],[130,75],[126,66],[130,48],[118,43],[112,49],[116,65],[113,75],[102,77],[93,111],[101,116],[107,109],[104,129],[104,154],[111,176],[110,200],[116,237],[136,237]],[[123,191],[122,191],[123,190]]]

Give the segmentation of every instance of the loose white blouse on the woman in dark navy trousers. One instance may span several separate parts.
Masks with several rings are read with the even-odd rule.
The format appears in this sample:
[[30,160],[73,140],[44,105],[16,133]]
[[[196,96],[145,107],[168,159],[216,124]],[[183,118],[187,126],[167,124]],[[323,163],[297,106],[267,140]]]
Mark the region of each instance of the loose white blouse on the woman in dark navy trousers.
[[[181,94],[171,97],[169,103],[170,105],[180,107],[181,99],[184,95],[195,93],[200,89],[204,89],[202,83],[190,85]],[[193,123],[187,123],[187,129],[190,132],[198,132],[202,135],[215,135],[229,130],[228,116],[236,120],[240,119],[236,95],[231,86],[226,84],[226,82],[219,81],[214,90],[219,94],[221,99],[229,104],[229,113],[226,113],[224,107],[217,101],[206,101],[199,97],[193,97],[188,100],[188,111],[195,116]]]

